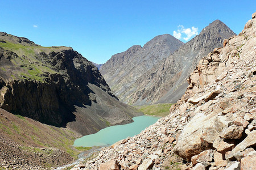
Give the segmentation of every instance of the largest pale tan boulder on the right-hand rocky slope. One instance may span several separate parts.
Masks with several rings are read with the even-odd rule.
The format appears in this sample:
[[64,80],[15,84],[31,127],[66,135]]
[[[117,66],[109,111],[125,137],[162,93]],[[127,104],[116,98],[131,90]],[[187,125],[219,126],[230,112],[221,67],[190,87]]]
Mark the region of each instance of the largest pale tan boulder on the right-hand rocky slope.
[[197,113],[185,125],[173,151],[181,158],[191,160],[192,156],[212,148],[214,139],[226,126],[217,115]]

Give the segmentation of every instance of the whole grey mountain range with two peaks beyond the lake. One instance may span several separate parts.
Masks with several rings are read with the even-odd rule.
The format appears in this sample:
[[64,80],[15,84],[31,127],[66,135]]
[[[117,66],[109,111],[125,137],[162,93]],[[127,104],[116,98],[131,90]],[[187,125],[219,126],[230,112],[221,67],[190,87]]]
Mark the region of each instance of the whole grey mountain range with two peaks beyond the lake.
[[[137,45],[115,54],[100,72],[124,103],[175,103],[184,94],[186,79],[199,59],[233,35],[224,23],[215,20],[186,44],[171,35],[156,36],[142,49]],[[175,44],[176,49],[167,48],[167,44]],[[158,53],[152,53],[154,49]]]

